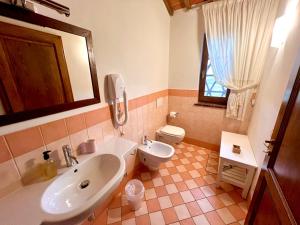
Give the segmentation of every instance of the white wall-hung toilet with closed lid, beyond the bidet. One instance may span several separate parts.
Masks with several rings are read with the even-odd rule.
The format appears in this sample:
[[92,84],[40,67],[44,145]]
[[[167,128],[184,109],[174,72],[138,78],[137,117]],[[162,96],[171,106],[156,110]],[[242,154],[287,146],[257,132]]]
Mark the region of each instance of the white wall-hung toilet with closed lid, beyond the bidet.
[[184,136],[184,129],[171,125],[166,125],[156,131],[156,139],[170,145],[179,144],[183,140]]

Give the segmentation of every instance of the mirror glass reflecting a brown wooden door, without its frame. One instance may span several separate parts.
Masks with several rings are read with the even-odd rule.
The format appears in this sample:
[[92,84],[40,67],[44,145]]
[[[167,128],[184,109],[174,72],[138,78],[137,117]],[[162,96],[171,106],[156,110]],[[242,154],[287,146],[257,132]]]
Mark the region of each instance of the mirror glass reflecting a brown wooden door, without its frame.
[[85,37],[0,20],[0,115],[95,98]]

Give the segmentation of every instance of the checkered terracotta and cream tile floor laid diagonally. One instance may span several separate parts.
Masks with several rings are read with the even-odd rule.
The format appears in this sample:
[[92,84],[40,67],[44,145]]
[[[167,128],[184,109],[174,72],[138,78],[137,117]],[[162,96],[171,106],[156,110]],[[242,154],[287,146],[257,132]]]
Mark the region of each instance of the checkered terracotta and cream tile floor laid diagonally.
[[141,209],[132,211],[124,193],[119,193],[95,224],[243,224],[248,202],[241,198],[241,190],[226,183],[216,188],[218,153],[186,143],[175,149],[172,160],[159,171],[137,172],[135,178],[146,189]]

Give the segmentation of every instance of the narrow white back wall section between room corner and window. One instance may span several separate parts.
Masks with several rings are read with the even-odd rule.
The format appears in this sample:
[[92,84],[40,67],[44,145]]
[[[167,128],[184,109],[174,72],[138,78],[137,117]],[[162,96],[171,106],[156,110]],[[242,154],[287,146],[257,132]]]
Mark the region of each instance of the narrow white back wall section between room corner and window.
[[204,37],[202,8],[171,18],[169,88],[198,90]]

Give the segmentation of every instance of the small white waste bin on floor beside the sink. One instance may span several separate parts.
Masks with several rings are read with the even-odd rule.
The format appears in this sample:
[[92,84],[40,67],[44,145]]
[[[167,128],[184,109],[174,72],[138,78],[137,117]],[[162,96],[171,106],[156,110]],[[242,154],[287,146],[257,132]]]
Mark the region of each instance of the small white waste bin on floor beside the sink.
[[134,210],[141,208],[141,204],[144,198],[145,188],[140,180],[134,179],[128,181],[125,186],[125,193],[129,205]]

